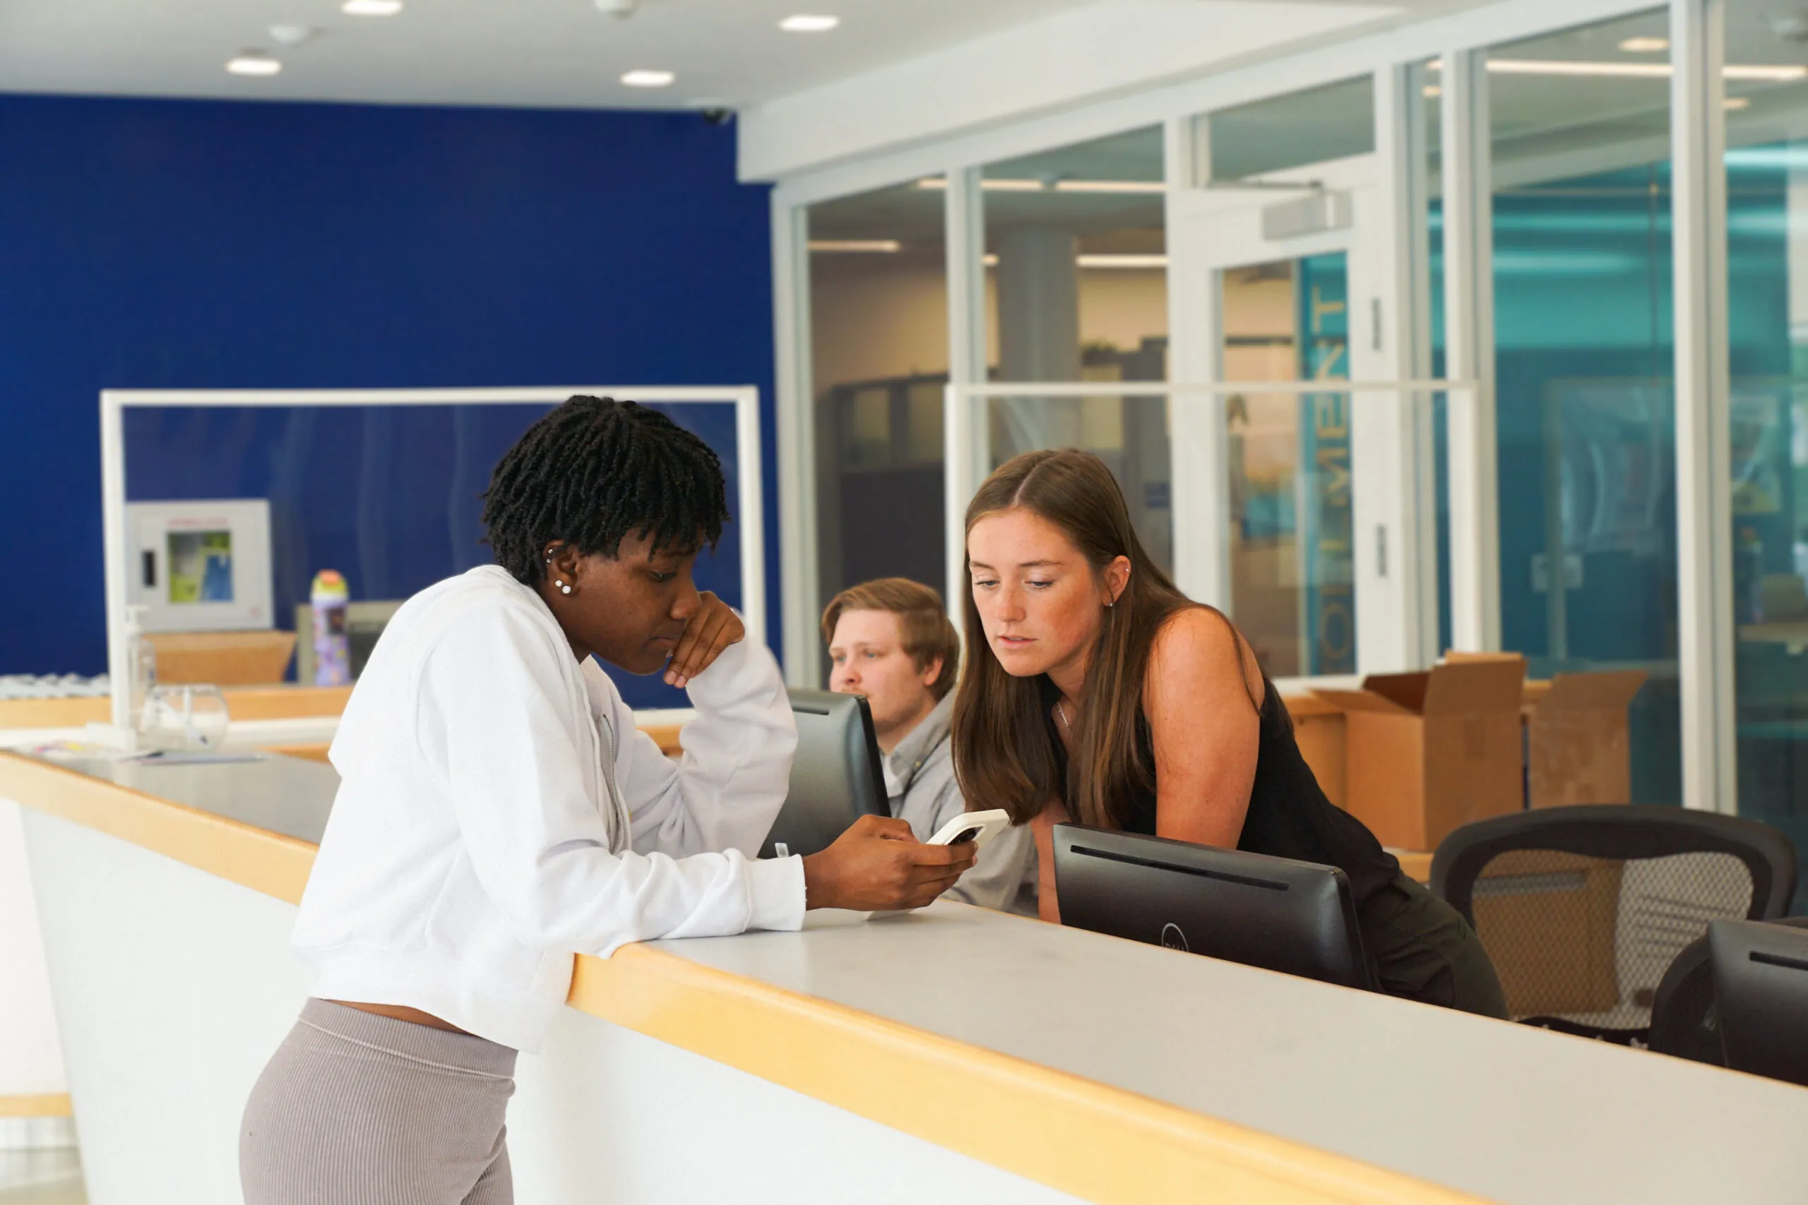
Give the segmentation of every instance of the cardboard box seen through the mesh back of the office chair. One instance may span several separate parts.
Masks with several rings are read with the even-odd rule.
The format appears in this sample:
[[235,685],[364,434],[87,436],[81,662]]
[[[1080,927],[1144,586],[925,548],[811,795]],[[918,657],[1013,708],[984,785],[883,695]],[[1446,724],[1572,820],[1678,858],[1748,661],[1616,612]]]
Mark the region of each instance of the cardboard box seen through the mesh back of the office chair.
[[1472,907],[1515,1017],[1606,1012],[1620,1003],[1615,930],[1620,862],[1519,849],[1490,862]]

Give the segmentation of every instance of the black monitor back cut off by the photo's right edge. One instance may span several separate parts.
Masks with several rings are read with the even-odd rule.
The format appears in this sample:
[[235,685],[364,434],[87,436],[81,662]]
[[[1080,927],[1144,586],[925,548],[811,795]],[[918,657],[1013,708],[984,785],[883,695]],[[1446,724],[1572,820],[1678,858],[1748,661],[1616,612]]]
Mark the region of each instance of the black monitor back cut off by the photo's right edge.
[[1808,1086],[1808,929],[1714,921],[1707,945],[1727,1066]]

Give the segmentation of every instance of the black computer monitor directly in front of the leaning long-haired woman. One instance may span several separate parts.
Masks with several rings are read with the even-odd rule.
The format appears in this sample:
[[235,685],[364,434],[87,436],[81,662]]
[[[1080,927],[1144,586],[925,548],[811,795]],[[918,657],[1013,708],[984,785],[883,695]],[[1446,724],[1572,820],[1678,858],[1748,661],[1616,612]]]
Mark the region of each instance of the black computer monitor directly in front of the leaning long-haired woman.
[[1370,988],[1343,871],[1059,824],[1061,923],[1347,988]]

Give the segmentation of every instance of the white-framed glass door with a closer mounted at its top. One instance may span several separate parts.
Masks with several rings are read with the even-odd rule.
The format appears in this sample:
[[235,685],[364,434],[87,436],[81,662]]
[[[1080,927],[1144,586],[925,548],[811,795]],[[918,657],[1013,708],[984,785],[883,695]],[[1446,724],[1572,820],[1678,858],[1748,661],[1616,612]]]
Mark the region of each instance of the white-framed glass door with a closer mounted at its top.
[[1405,298],[1389,271],[1378,177],[1376,155],[1358,154],[1253,177],[1215,172],[1181,201],[1186,255],[1173,287],[1206,298],[1211,379],[1253,385],[1217,399],[1219,428],[1197,441],[1219,450],[1197,466],[1222,481],[1222,528],[1206,533],[1217,593],[1275,677],[1416,668],[1419,625],[1437,621],[1407,602],[1423,538],[1412,414],[1428,401],[1260,388],[1414,376],[1389,338],[1387,316]]

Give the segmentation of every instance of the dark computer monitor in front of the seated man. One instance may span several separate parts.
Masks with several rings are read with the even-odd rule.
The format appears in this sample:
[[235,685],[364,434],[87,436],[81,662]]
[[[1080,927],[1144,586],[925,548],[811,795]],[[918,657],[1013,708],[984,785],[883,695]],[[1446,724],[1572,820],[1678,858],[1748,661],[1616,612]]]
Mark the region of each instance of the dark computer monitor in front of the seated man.
[[[797,757],[790,793],[772,822],[761,858],[821,853],[861,817],[886,817],[873,712],[857,694],[792,690]],[[779,849],[783,845],[783,849]]]

